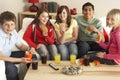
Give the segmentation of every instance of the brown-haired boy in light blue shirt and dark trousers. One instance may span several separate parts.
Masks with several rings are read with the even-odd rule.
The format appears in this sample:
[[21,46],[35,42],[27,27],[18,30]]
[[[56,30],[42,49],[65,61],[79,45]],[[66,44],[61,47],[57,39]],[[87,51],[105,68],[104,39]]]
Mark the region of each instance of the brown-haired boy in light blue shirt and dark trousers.
[[[16,46],[22,51],[29,50],[34,53],[34,48],[21,43],[15,30],[16,17],[12,12],[5,11],[0,15],[0,60],[5,61],[5,73],[7,80],[19,80],[18,70],[14,62],[30,63],[31,59],[24,58],[25,52],[12,53],[12,48]],[[15,58],[16,57],[16,58]]]

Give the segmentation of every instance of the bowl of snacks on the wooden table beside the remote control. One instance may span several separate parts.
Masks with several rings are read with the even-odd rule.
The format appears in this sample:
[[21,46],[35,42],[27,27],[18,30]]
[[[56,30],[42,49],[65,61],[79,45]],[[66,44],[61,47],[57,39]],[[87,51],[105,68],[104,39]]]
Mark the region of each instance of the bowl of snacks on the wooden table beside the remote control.
[[77,75],[82,72],[82,69],[80,68],[80,66],[68,65],[68,66],[63,66],[61,71],[62,73],[67,75]]

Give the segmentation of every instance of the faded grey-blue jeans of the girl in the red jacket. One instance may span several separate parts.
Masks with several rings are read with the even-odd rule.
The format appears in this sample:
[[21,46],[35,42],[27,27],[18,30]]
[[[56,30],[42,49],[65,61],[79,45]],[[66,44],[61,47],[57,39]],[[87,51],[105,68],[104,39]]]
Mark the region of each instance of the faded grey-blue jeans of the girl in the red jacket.
[[54,59],[54,55],[57,54],[57,48],[55,45],[42,45],[36,50],[40,56],[47,55],[47,59]]

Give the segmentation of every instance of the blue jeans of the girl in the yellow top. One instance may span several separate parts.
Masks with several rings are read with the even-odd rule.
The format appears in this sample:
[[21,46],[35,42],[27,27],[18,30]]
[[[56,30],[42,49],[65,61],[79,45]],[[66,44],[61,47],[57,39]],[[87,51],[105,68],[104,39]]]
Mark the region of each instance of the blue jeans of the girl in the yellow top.
[[78,49],[77,45],[73,42],[65,44],[57,44],[58,53],[60,53],[62,60],[69,60],[70,54],[75,54],[77,56]]

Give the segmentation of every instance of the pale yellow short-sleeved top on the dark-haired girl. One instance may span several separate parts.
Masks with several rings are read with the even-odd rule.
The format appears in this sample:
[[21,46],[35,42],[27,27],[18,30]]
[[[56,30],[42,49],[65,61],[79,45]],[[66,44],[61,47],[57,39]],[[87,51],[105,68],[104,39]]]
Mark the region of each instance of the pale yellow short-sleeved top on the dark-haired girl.
[[[65,37],[64,37],[65,39],[69,39],[72,37],[73,30],[75,27],[77,27],[77,25],[78,25],[77,21],[75,19],[72,19],[69,29],[65,32]],[[58,23],[55,23],[55,31],[60,32],[60,26]]]

